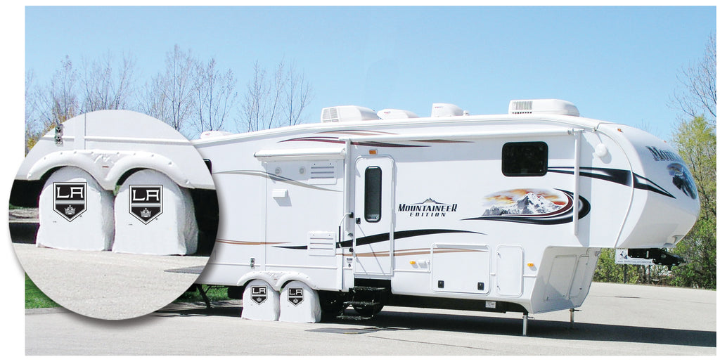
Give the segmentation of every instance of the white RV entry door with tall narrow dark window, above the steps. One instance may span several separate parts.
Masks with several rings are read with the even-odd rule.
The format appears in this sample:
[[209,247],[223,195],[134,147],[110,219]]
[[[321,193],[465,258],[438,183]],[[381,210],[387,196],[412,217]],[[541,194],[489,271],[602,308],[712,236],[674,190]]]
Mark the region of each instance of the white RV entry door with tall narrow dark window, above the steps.
[[359,158],[355,165],[356,278],[392,276],[395,165],[392,158]]

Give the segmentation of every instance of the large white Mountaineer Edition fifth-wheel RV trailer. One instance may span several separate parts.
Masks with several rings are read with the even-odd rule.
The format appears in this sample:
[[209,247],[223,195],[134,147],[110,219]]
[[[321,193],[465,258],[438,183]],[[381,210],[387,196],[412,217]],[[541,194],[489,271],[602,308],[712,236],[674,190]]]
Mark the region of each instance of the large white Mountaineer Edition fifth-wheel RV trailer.
[[329,313],[572,312],[600,248],[677,265],[665,248],[699,211],[666,142],[561,100],[501,115],[433,104],[431,117],[338,106],[318,124],[193,143],[221,216],[197,283],[300,281]]

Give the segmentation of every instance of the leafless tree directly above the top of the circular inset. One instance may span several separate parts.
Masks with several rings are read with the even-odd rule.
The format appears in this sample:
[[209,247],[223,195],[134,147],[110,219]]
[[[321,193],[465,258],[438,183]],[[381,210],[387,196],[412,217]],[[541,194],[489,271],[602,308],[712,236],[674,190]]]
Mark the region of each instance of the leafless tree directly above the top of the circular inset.
[[112,55],[107,53],[100,60],[84,64],[84,112],[130,109],[135,85],[135,60],[131,56],[124,57],[120,68],[115,71],[112,58]]

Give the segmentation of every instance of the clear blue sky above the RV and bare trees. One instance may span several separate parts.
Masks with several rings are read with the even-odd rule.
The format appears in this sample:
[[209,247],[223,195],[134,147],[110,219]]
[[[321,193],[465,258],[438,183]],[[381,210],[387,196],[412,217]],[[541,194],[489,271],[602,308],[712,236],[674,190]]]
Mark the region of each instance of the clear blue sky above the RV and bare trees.
[[502,114],[511,99],[557,98],[667,139],[678,70],[715,31],[714,6],[28,7],[24,46],[41,83],[65,55],[108,52],[132,53],[150,78],[177,44],[231,68],[243,91],[256,60],[284,59],[315,90],[307,122],[345,104]]

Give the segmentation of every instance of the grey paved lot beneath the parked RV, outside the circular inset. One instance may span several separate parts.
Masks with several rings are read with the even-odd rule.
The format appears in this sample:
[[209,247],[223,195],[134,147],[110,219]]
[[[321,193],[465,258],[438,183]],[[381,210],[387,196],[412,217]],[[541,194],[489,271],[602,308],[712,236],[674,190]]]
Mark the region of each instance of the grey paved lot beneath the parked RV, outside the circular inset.
[[521,314],[387,307],[370,321],[240,319],[240,302],[168,306],[107,322],[27,310],[27,355],[716,355],[716,292],[593,283],[568,311]]

